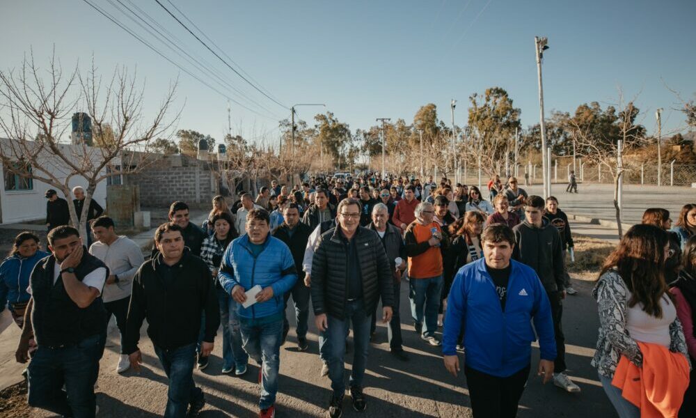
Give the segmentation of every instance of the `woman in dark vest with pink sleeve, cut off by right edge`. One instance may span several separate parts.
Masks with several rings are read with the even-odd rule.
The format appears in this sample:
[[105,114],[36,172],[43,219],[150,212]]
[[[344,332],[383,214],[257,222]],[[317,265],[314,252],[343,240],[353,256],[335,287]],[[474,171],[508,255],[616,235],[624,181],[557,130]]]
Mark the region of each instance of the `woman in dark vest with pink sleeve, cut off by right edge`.
[[677,318],[681,321],[686,347],[691,357],[689,387],[679,409],[679,418],[696,417],[696,235],[689,238],[682,253],[681,271],[670,284],[670,292],[677,305]]

